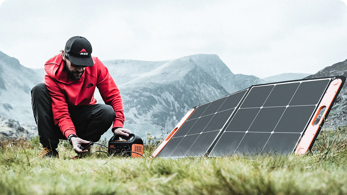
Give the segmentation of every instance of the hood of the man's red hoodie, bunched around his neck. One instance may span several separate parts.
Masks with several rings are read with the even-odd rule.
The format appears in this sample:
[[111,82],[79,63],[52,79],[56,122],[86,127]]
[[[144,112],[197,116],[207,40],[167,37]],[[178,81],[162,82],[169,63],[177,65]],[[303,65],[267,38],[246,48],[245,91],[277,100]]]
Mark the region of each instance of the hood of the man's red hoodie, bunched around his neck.
[[[56,80],[64,84],[70,84],[77,81],[67,76],[65,63],[66,62],[63,60],[63,57],[61,56],[61,54],[58,54],[57,56],[54,56],[53,58],[49,59],[44,65],[44,70],[46,71],[45,76],[49,76],[53,80]],[[81,79],[79,80],[83,80],[84,75],[85,75],[85,71],[82,74]]]

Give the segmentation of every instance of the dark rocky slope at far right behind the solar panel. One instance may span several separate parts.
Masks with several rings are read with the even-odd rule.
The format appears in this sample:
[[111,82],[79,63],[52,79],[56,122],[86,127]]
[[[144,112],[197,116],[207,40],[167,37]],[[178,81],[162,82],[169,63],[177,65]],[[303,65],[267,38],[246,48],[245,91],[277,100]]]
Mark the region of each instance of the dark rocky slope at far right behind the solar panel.
[[[320,70],[314,75],[305,78],[318,78],[343,75],[347,77],[347,60],[336,63]],[[333,120],[333,126],[346,126],[347,125],[347,84],[342,87],[337,99],[329,113],[328,119]]]

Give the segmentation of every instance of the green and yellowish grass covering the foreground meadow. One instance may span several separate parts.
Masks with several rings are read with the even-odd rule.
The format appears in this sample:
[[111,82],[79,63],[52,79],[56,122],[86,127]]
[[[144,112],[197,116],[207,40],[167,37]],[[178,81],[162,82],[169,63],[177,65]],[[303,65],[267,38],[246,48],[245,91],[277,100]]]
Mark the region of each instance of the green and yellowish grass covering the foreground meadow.
[[[36,155],[37,137],[5,141],[0,142],[0,194],[347,194],[344,135],[346,129],[324,130],[303,156],[108,162],[108,156],[93,152],[72,160],[67,142],[61,142],[55,159]],[[145,155],[154,148],[147,145]]]

